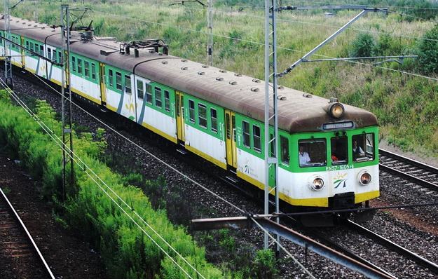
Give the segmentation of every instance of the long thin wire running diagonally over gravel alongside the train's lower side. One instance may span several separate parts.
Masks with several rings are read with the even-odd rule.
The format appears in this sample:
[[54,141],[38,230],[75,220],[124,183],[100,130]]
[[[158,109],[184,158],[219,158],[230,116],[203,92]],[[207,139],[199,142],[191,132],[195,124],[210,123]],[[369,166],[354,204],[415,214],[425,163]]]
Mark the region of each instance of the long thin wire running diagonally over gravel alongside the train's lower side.
[[[32,72],[31,72],[32,73]],[[38,75],[32,73],[34,76],[36,76],[37,79],[39,79],[41,82],[43,82],[46,86],[48,86],[49,88],[51,88],[55,93],[57,94],[61,94],[58,90],[56,90],[55,88],[53,88],[53,86],[50,86],[50,84],[48,84],[46,81],[44,81],[43,79],[41,79],[41,77],[39,77]],[[107,123],[104,123],[103,121],[101,121],[99,118],[97,118],[96,116],[94,116],[93,114],[90,114],[90,112],[86,111],[85,109],[83,109],[81,106],[79,106],[78,104],[76,104],[76,102],[73,102],[73,100],[69,100],[69,102],[71,102],[71,104],[74,104],[75,107],[77,107],[78,109],[80,109],[81,111],[85,112],[85,114],[88,114],[88,116],[91,116],[92,118],[94,118],[96,121],[98,121],[99,123],[101,123],[102,125],[104,125],[105,127],[107,127],[109,130],[111,130],[112,132],[115,132],[116,135],[122,137],[124,140],[127,140],[128,142],[130,142],[130,144],[134,145],[135,147],[137,147],[138,149],[144,151],[146,154],[148,154],[149,156],[151,156],[152,158],[156,159],[157,161],[159,161],[160,163],[162,163],[163,165],[165,165],[167,168],[170,168],[171,170],[173,170],[174,172],[177,172],[179,175],[182,175],[182,177],[184,177],[185,179],[188,179],[190,182],[192,182],[193,184],[196,184],[197,186],[200,186],[201,189],[207,191],[208,193],[212,194],[213,196],[215,196],[216,198],[219,198],[219,200],[222,200],[224,203],[227,203],[228,205],[231,205],[232,207],[234,207],[236,210],[244,213],[245,215],[247,215],[247,212],[245,210],[242,210],[240,207],[238,207],[237,205],[234,205],[233,203],[229,202],[228,200],[226,200],[225,198],[222,198],[221,196],[217,195],[217,193],[214,193],[213,191],[211,191],[210,189],[207,189],[205,186],[203,186],[202,184],[200,184],[199,182],[196,182],[196,180],[191,179],[191,177],[184,175],[182,172],[180,172],[179,170],[177,170],[176,168],[174,168],[172,165],[166,163],[165,161],[163,161],[162,159],[158,158],[157,156],[151,154],[151,152],[147,151],[146,149],[144,149],[143,147],[139,146],[139,144],[133,142],[132,140],[130,140],[128,137],[125,137],[125,135],[122,135],[120,132],[118,132],[117,130],[115,130],[114,128],[112,128],[111,126],[109,126]],[[259,223],[256,223],[258,226],[260,226]],[[266,230],[263,229],[265,232]],[[273,236],[271,236],[268,233],[268,236],[270,236],[271,238],[273,238]],[[274,242],[277,243],[277,240],[275,238],[273,238]],[[294,262],[299,263],[299,261],[290,253],[286,250],[285,247],[283,247],[280,243],[278,243],[278,245],[282,248],[283,251],[285,251],[289,257],[292,258],[292,260]],[[303,266],[301,263],[299,264],[299,266]],[[306,273],[308,273],[308,271],[305,269]],[[311,275],[311,273],[308,273],[312,278],[313,275]]]

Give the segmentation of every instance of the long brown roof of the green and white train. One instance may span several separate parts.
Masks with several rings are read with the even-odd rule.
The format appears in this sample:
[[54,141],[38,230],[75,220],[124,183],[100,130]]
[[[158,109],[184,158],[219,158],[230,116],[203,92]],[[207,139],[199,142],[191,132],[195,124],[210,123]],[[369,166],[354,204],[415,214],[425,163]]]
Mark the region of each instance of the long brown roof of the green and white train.
[[[4,21],[1,20],[2,29],[3,25]],[[50,46],[61,47],[59,27],[52,28],[11,17],[11,32],[46,42]],[[122,54],[119,52],[121,43],[115,39],[99,37],[81,40],[78,32],[72,32],[70,49],[74,53],[134,72],[182,93],[264,121],[264,81],[172,55],[163,55],[151,49],[140,49],[138,57],[134,53]],[[272,100],[270,102],[272,104]],[[329,100],[326,98],[279,86],[278,126],[288,132],[317,132],[322,130],[324,123],[353,121],[356,128],[378,124],[374,114],[348,104],[343,104],[345,113],[341,118],[333,118],[327,113],[328,106]]]

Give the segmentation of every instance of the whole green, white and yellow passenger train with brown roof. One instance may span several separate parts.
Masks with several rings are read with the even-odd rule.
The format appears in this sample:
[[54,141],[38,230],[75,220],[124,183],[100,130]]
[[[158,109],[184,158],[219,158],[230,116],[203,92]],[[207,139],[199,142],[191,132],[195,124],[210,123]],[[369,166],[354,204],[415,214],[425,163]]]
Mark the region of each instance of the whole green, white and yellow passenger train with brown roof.
[[[60,61],[59,28],[11,18],[11,29],[13,41]],[[60,67],[15,48],[27,54],[16,66],[60,84]],[[160,40],[72,32],[70,50],[74,93],[264,189],[264,81],[167,55]],[[278,94],[280,199],[301,209],[341,209],[378,197],[376,116],[291,88],[280,86]]]

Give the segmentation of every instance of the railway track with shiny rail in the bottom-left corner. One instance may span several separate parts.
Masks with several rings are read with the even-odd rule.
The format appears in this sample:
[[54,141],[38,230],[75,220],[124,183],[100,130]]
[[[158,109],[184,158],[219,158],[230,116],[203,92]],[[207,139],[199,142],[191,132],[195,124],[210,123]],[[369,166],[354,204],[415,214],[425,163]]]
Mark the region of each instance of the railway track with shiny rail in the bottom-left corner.
[[[0,239],[0,254],[12,259],[17,278],[55,278],[25,224],[1,189]],[[8,274],[6,267],[2,266],[1,269],[1,273]]]

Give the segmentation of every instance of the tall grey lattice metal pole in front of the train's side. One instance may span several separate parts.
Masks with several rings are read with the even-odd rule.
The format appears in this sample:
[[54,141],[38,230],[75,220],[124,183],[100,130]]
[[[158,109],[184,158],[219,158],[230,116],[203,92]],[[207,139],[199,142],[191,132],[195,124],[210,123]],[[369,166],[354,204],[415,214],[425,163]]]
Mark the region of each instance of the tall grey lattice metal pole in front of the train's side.
[[[264,195],[264,212],[269,214],[269,170],[273,172],[274,189],[275,189],[275,212],[279,212],[278,199],[278,81],[277,81],[277,25],[275,22],[277,0],[265,1],[265,195]],[[272,46],[271,46],[272,43]],[[272,50],[271,50],[272,47]],[[272,86],[271,84],[272,83]],[[271,106],[269,98],[271,97],[270,88],[272,87],[272,115],[270,115]],[[273,137],[271,139],[269,132],[270,123],[273,124]],[[271,143],[273,143],[272,156],[270,152]],[[280,222],[280,219],[276,219]],[[277,252],[280,251],[279,237],[277,236]],[[268,234],[264,235],[264,247],[268,248]]]

